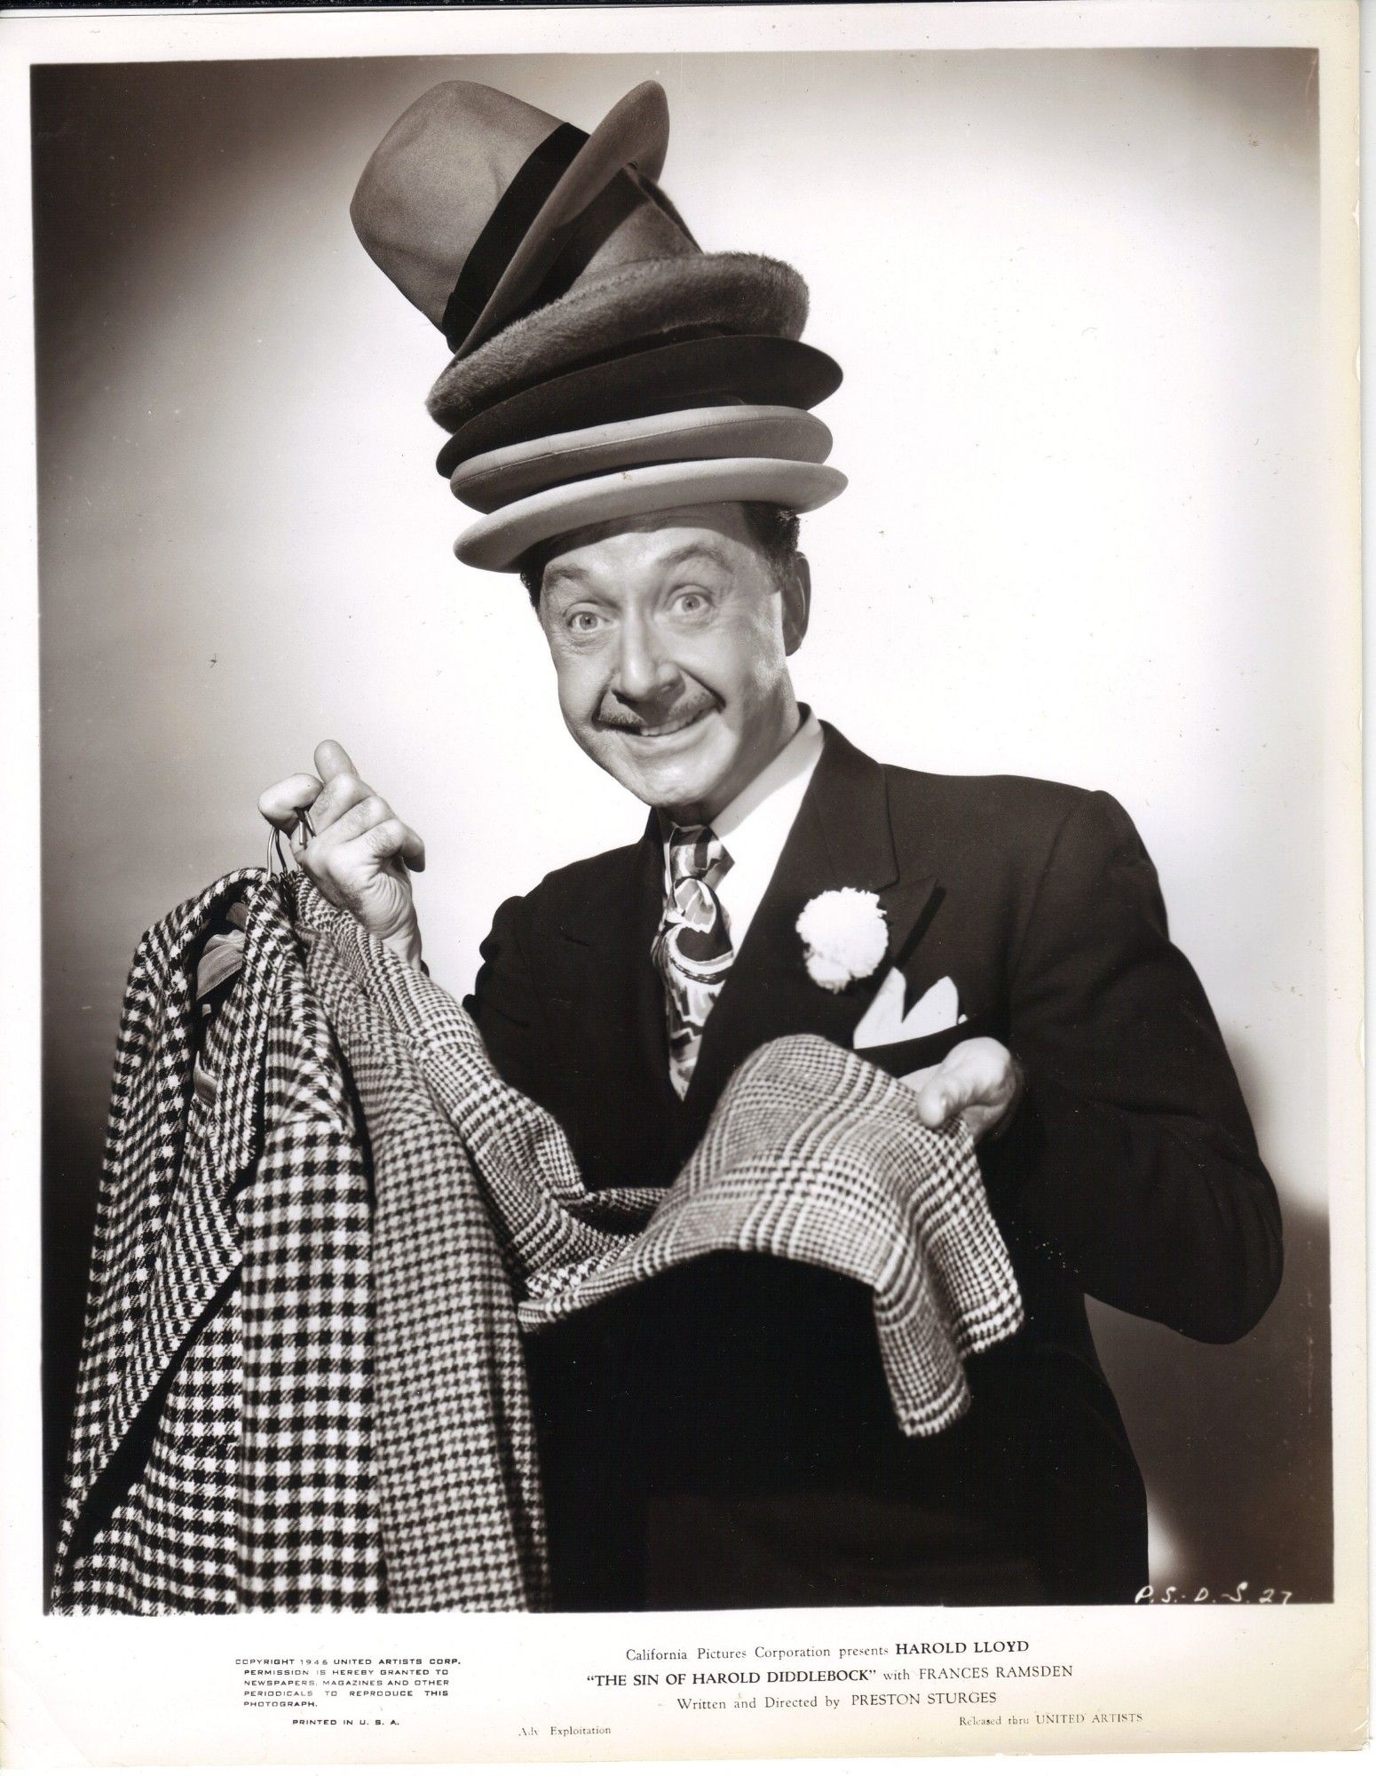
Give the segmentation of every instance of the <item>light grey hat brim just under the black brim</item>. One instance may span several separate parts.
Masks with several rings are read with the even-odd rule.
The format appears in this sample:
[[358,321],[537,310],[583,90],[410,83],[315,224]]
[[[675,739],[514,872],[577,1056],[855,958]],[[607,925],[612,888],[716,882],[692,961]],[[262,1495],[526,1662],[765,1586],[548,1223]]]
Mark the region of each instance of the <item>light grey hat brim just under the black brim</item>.
[[717,456],[826,462],[829,451],[829,428],[797,407],[698,407],[508,444],[460,464],[449,487],[474,511],[495,511],[611,469]]

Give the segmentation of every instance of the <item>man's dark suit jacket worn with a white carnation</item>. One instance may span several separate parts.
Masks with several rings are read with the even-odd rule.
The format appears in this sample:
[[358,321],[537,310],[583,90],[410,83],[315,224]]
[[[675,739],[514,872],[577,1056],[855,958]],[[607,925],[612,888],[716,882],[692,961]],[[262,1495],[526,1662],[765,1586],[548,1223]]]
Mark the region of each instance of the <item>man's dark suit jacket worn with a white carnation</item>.
[[[840,886],[879,893],[891,943],[827,993],[794,927]],[[975,1405],[934,1439],[893,1424],[866,1291],[806,1266],[714,1257],[538,1336],[556,1602],[1129,1602],[1145,1502],[1083,1296],[1236,1339],[1278,1286],[1280,1217],[1127,815],[1058,783],[879,765],[827,726],[682,1103],[660,908],[652,819],[504,902],[483,945],[469,1009],[584,1177],[668,1185],[758,1044],[850,1046],[891,964],[909,1003],[950,977],[966,1021],[872,1058],[907,1073],[987,1034],[1023,1064],[980,1162],[1026,1327],[973,1359]]]

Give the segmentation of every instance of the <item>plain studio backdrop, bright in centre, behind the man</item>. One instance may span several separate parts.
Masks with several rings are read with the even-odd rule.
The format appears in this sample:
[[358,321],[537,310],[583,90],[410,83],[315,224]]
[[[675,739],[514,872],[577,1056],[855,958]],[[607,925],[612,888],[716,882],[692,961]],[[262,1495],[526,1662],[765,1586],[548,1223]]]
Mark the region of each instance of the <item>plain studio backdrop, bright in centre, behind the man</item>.
[[1161,1582],[1332,1586],[1309,52],[300,60],[34,73],[48,1483],[138,932],[257,861],[336,735],[426,836],[435,973],[639,810],[520,590],[460,568],[446,352],[348,224],[442,78],[591,126],[669,92],[708,247],[795,263],[852,485],[804,524],[799,691],[868,751],[1113,790],[1287,1220],[1230,1348],[1095,1309]]

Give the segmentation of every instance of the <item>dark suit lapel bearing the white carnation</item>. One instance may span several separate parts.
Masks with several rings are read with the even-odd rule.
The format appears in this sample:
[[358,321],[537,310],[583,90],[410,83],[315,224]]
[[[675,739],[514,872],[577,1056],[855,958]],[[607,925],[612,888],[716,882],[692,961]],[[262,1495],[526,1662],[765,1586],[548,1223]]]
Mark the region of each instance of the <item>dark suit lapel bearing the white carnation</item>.
[[[904,870],[895,852],[882,765],[827,723],[822,730],[826,744],[797,821],[703,1032],[684,1103],[689,1140],[701,1133],[735,1067],[762,1043],[813,1034],[849,1048],[888,970],[897,964],[907,975],[913,968],[937,902],[936,879]],[[877,893],[890,932],[879,968],[840,993],[811,979],[797,934],[803,908],[831,888]]]

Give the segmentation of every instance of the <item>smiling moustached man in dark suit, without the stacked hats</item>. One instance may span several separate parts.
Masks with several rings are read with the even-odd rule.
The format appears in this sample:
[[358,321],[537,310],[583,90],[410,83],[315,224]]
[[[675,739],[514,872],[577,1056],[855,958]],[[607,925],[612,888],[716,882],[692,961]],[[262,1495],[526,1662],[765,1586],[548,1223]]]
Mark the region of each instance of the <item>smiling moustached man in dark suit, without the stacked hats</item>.
[[[854,1039],[865,982],[838,995],[808,977],[803,906],[897,888],[911,991],[952,980],[966,1019],[902,1066],[925,1073],[925,1121],[964,1115],[982,1138],[1028,1311],[971,1364],[969,1417],[930,1444],[890,1423],[859,1286],[803,1266],[714,1259],[536,1339],[556,1595],[1129,1600],[1142,1487],[1083,1291],[1230,1339],[1269,1302],[1280,1254],[1246,1112],[1131,824],[1058,785],[890,771],[801,716],[787,659],[806,568],[771,559],[742,506],[561,538],[538,609],[570,732],[657,821],[499,909],[471,1009],[504,1076],[559,1117],[595,1186],[668,1185],[760,1043]],[[291,824],[312,799],[298,860],[417,959],[394,860],[421,863],[419,838],[337,748],[318,764],[323,781],[286,780],[265,812]],[[717,900],[733,963],[682,1101],[652,955],[659,821],[719,822],[731,852]]]

